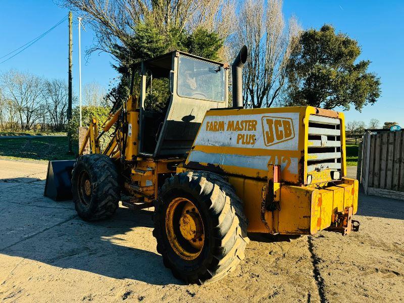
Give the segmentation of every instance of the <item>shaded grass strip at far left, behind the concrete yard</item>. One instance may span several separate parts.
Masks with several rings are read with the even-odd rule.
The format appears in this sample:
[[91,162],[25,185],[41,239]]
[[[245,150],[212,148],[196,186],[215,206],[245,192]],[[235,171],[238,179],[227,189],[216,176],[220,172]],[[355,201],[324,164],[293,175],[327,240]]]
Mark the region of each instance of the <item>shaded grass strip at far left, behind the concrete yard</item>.
[[78,150],[73,144],[74,155],[69,155],[67,137],[0,138],[0,158],[24,160],[71,160]]

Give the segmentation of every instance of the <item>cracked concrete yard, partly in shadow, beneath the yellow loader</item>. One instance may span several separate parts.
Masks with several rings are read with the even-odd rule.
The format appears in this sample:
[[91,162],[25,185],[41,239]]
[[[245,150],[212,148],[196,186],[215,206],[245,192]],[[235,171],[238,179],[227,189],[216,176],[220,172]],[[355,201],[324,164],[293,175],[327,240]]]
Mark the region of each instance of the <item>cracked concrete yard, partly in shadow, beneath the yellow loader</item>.
[[358,233],[255,237],[226,278],[184,285],[156,251],[151,211],[120,207],[111,220],[83,222],[71,201],[42,195],[46,169],[0,160],[4,302],[404,300],[403,201],[361,194]]

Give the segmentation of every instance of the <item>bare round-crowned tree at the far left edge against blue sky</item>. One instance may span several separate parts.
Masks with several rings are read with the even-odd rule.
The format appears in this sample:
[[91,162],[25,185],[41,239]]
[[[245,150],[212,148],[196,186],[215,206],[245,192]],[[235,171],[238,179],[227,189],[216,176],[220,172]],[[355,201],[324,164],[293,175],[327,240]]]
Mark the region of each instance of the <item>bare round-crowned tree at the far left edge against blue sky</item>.
[[39,109],[43,101],[42,78],[28,72],[10,70],[1,75],[0,84],[18,113],[21,129],[32,129],[40,118]]

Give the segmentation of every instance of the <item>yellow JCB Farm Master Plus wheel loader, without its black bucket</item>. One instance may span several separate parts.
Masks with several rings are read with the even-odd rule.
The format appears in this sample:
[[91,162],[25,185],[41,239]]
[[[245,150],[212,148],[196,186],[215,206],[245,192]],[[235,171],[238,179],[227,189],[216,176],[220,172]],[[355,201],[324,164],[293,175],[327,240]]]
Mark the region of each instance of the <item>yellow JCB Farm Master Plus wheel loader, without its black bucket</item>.
[[[72,173],[77,213],[112,216],[119,201],[154,207],[153,235],[164,265],[186,283],[208,283],[244,258],[248,233],[347,234],[358,181],[346,177],[344,116],[314,107],[243,109],[244,46],[230,66],[183,52],[144,61],[140,96],[115,104],[104,125],[90,121]],[[145,107],[166,78],[164,107]],[[100,149],[99,138],[114,129]],[[100,130],[100,132],[98,131]],[[89,142],[90,154],[83,155]]]

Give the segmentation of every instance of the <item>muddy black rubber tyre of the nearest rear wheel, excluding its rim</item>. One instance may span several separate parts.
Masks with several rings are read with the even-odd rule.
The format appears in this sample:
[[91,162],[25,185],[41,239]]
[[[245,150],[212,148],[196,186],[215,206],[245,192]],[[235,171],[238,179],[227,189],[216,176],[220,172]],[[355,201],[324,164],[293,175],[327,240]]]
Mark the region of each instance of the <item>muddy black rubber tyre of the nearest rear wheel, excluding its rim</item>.
[[[168,239],[167,209],[178,197],[190,200],[204,223],[205,241],[194,260],[181,258]],[[184,172],[167,179],[155,204],[154,224],[164,265],[186,283],[206,284],[223,278],[244,259],[249,242],[242,201],[223,177],[207,172]]]

